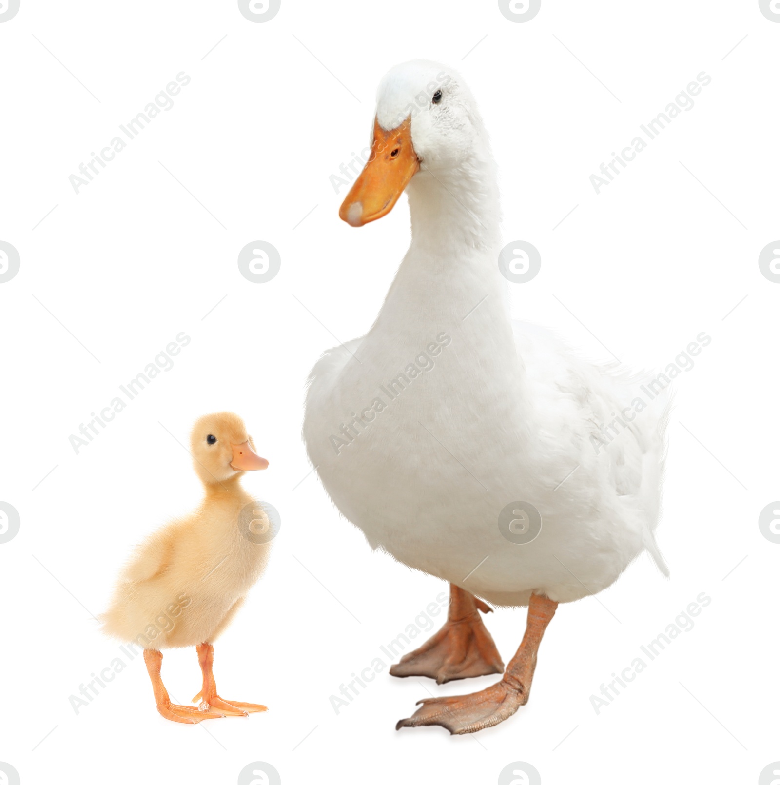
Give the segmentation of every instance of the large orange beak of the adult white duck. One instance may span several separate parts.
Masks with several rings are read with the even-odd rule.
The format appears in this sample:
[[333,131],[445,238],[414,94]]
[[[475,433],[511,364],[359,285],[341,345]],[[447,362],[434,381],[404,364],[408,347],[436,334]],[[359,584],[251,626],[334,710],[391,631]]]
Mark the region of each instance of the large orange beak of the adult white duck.
[[411,117],[392,131],[383,130],[374,119],[370,158],[344,199],[339,217],[350,226],[363,226],[387,215],[419,170]]

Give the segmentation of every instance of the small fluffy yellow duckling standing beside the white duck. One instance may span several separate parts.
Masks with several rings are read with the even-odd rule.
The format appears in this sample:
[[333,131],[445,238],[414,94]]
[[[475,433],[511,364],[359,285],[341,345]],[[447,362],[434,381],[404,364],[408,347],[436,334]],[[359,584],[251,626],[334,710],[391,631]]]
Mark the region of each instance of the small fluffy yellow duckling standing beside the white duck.
[[[265,711],[259,703],[217,695],[213,641],[239,609],[268,561],[268,515],[241,487],[247,469],[266,469],[236,414],[206,414],[192,429],[191,455],[206,496],[194,513],[173,520],[139,546],[119,580],[104,632],[144,648],[157,710],[194,724],[209,717]],[[170,702],[162,684],[162,648],[195,646],[203,688],[198,708]]]

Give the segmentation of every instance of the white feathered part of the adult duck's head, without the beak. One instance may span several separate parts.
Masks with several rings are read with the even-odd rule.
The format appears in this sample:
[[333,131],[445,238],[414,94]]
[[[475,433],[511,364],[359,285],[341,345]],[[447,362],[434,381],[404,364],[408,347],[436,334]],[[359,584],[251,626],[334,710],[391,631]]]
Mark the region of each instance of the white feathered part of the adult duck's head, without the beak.
[[391,68],[377,90],[377,120],[386,131],[411,117],[412,144],[432,170],[468,159],[486,138],[476,101],[461,75],[432,60]]

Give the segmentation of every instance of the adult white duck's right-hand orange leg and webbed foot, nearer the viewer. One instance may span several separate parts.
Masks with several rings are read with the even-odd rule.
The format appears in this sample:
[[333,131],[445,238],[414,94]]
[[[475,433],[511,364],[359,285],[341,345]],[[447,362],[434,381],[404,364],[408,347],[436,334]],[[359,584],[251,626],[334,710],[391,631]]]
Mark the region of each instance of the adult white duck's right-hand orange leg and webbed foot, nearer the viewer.
[[528,701],[541,636],[557,607],[547,597],[531,594],[523,642],[498,684],[472,695],[418,701],[422,706],[409,719],[399,720],[395,729],[441,725],[453,734],[474,733],[512,717]]

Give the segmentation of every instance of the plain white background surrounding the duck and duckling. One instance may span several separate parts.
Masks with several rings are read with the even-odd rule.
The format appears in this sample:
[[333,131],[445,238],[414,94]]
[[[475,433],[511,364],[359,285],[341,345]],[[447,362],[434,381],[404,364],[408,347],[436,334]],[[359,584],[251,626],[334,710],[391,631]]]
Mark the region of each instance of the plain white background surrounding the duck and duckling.
[[[0,545],[0,761],[24,785],[235,783],[251,761],[283,783],[492,785],[512,761],[545,785],[757,782],[780,759],[780,546],[757,525],[780,497],[780,286],[757,265],[780,235],[778,42],[755,0],[543,0],[526,24],[496,2],[282,0],[252,24],[235,2],[22,0],[0,24],[0,239],[21,257],[0,284],[0,500],[21,517]],[[385,673],[331,707],[446,586],[370,551],[300,437],[309,369],[370,327],[409,241],[405,199],[355,230],[329,177],[366,144],[381,75],[412,57],[471,86],[505,240],[541,252],[540,274],[512,288],[516,316],[635,368],[712,337],[675,382],[658,530],[672,578],[642,557],[559,608],[530,703],[475,736],[394,726],[417,699],[495,677]],[[68,175],[180,71],[191,83],[173,109],[76,195]],[[694,108],[596,195],[589,175],[701,71],[712,83]],[[255,239],[282,257],[269,283],[239,274]],[[68,436],[180,331],[175,367],[75,455]],[[270,710],[165,721],[138,658],[77,715],[68,696],[118,652],[91,614],[133,544],[199,501],[177,440],[221,409],[270,460],[245,484],[282,530],[215,674],[228,699]],[[712,603],[694,629],[597,715],[589,697],[701,592]],[[524,616],[487,619],[505,661]],[[166,653],[162,673],[180,702],[199,689],[194,651]]]

